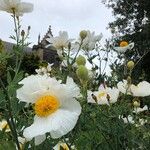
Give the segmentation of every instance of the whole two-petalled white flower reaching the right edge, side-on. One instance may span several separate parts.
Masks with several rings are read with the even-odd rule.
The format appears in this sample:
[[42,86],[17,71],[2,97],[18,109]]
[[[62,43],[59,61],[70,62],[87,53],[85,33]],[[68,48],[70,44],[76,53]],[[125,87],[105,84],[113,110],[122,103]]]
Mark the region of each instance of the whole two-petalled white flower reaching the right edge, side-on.
[[120,92],[137,97],[145,97],[150,95],[150,83],[142,81],[138,85],[128,84],[126,80],[120,81],[117,84]]

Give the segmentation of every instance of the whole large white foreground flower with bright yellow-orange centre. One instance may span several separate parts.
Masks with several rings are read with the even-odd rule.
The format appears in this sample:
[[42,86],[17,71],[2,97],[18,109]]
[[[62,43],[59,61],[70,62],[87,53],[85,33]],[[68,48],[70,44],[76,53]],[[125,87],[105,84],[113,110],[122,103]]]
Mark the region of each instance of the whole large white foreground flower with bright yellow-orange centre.
[[75,127],[81,113],[81,106],[75,99],[80,90],[71,78],[61,84],[46,75],[31,75],[19,84],[23,86],[17,90],[17,98],[31,103],[35,112],[33,124],[24,129],[25,138],[40,135],[43,140],[47,132],[52,138],[60,138]]

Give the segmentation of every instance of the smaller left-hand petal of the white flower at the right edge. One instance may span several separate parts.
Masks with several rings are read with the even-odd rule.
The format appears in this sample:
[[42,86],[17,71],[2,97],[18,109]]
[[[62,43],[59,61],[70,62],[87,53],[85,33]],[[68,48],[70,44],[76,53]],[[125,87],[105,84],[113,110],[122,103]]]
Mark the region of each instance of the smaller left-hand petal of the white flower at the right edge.
[[127,80],[118,82],[117,88],[121,93],[131,95],[130,85]]

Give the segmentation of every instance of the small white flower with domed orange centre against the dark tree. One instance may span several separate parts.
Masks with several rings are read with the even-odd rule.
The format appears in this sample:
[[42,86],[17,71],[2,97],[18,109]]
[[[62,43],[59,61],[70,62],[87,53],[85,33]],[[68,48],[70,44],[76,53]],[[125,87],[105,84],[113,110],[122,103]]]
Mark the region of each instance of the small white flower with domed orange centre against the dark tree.
[[120,42],[119,47],[114,47],[114,50],[117,51],[118,53],[125,53],[127,50],[131,50],[134,47],[134,43],[128,44],[126,41]]

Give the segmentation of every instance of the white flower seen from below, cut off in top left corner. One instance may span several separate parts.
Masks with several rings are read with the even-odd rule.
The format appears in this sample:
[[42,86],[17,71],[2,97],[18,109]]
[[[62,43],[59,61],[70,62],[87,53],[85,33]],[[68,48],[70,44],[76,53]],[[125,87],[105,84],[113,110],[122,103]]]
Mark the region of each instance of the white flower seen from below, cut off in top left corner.
[[0,10],[22,16],[24,13],[33,11],[33,4],[21,2],[21,0],[0,0]]

